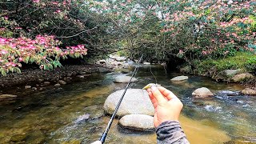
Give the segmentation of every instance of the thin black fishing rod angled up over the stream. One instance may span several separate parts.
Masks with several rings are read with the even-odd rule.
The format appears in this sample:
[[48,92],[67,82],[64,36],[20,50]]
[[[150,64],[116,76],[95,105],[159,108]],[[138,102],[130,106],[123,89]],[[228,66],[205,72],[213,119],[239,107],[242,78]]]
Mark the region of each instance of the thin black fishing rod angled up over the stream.
[[108,132],[109,132],[109,130],[110,130],[110,126],[112,125],[112,122],[114,121],[115,115],[118,113],[118,109],[119,109],[119,106],[121,105],[122,98],[124,98],[124,96],[125,96],[125,94],[126,94],[126,90],[128,89],[132,78],[137,74],[138,66],[139,66],[139,63],[142,61],[142,57],[143,57],[143,54],[142,54],[141,58],[139,58],[138,63],[137,63],[137,66],[135,67],[134,72],[133,72],[133,74],[131,75],[130,81],[128,82],[128,84],[127,84],[127,86],[126,86],[126,89],[123,91],[122,97],[119,99],[118,105],[117,105],[117,106],[115,107],[115,109],[114,109],[114,113],[112,114],[112,116],[111,116],[111,118],[110,118],[110,122],[109,122],[109,123],[107,124],[107,126],[106,126],[106,130],[105,130],[104,133],[102,134],[102,137],[99,139],[99,141],[101,141],[102,143],[105,142],[106,135],[108,134]]

